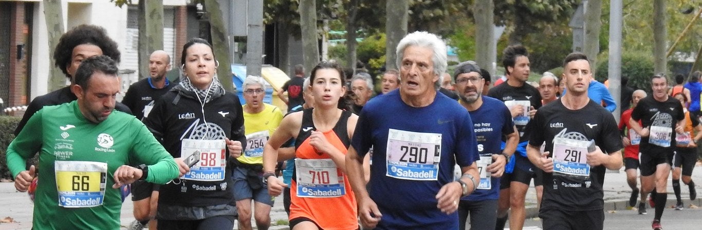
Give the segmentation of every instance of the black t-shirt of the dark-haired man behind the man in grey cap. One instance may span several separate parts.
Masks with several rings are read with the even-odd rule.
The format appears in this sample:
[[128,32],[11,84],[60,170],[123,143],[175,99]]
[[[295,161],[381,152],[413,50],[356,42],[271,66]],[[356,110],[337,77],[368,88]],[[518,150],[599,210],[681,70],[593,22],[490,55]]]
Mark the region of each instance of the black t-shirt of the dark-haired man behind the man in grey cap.
[[[538,93],[538,89],[527,83],[524,83],[522,87],[513,87],[507,82],[503,82],[490,89],[487,96],[503,102],[529,101],[531,106],[534,106],[534,109],[538,110],[538,108],[541,108],[541,94]],[[517,131],[519,131],[519,142],[529,141],[529,131],[531,130],[527,130],[528,124],[520,123],[515,119],[515,125],[517,126]]]

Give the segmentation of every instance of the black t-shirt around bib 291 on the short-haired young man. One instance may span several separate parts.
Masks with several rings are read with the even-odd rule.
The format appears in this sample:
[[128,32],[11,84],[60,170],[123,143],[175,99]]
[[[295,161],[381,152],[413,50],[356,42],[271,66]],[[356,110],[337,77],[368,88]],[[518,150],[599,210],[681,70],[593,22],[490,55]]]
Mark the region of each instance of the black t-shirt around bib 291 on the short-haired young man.
[[[555,137],[595,140],[602,152],[611,153],[623,148],[614,117],[601,105],[590,100],[579,110],[569,110],[562,99],[548,103],[536,112],[531,125],[538,131],[531,132],[529,145],[540,147],[546,143],[545,151],[553,152]],[[584,157],[584,156],[583,156]],[[588,179],[571,178],[553,173],[543,173],[543,199],[541,208],[561,210],[602,210],[604,208],[604,166],[590,168]]]

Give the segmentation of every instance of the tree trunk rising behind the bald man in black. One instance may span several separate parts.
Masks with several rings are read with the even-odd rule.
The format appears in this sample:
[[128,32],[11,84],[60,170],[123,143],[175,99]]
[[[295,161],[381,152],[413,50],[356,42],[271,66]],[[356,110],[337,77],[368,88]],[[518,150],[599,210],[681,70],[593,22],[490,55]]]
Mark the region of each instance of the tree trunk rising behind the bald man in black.
[[[139,1],[139,79],[149,77],[149,58],[156,50],[164,49],[164,1]],[[142,22],[140,20],[140,22]],[[143,45],[143,47],[142,47]]]

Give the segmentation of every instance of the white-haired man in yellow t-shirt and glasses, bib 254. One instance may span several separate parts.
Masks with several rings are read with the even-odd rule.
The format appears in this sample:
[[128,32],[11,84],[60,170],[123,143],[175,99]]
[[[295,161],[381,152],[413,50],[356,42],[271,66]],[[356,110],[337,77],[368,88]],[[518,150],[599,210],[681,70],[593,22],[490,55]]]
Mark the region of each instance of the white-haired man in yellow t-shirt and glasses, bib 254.
[[270,208],[273,199],[268,194],[263,182],[263,146],[283,120],[279,108],[263,103],[265,83],[258,76],[247,76],[244,88],[244,128],[246,129],[246,148],[234,161],[232,179],[234,180],[234,199],[237,200],[239,229],[251,228],[251,200],[253,199],[253,216],[258,229],[270,227]]

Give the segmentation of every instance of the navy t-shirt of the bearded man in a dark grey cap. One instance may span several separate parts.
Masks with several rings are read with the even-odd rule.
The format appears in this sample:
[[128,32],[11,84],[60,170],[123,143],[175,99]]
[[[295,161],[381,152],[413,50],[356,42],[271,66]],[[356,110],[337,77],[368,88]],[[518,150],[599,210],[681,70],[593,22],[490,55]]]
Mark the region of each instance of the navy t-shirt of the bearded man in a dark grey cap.
[[[492,161],[492,154],[502,153],[503,137],[515,132],[515,122],[512,122],[512,114],[502,101],[482,96],[483,104],[475,111],[468,111],[470,119],[475,127],[475,138],[478,143],[478,152],[480,157]],[[486,158],[487,157],[487,158]],[[490,177],[482,178],[483,171],[486,168],[480,168],[481,171],[480,185],[475,192],[470,196],[465,196],[462,200],[466,201],[484,201],[496,200],[500,196],[500,178]],[[490,175],[489,172],[485,172]]]

